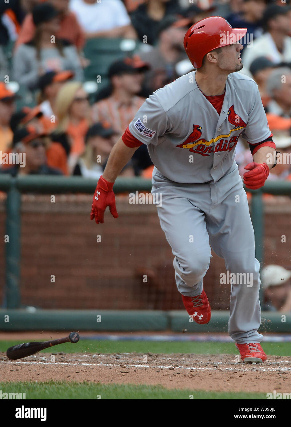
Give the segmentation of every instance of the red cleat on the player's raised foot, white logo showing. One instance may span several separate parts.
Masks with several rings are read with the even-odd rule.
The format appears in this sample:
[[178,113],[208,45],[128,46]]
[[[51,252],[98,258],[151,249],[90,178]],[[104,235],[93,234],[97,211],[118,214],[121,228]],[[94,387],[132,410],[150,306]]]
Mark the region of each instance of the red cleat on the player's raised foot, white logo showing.
[[209,322],[211,319],[211,307],[204,289],[197,296],[182,295],[182,300],[188,314],[193,316],[196,323],[206,325]]

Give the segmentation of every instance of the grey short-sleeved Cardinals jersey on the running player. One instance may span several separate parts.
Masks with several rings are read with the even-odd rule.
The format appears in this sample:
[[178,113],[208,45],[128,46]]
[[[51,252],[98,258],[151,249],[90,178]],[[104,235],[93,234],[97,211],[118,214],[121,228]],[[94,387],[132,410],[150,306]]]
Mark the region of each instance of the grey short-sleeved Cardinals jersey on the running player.
[[234,162],[239,135],[252,144],[270,136],[258,85],[229,74],[220,115],[197,86],[195,72],[154,92],[129,131],[148,146],[162,175],[181,183],[218,181]]

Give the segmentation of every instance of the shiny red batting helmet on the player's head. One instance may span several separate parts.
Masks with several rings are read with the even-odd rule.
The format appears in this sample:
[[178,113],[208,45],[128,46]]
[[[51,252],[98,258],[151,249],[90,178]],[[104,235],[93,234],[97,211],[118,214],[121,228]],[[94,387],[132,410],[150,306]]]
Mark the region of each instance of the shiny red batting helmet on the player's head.
[[221,16],[210,16],[192,25],[185,34],[184,48],[195,68],[200,68],[206,53],[238,42],[247,28],[232,28]]

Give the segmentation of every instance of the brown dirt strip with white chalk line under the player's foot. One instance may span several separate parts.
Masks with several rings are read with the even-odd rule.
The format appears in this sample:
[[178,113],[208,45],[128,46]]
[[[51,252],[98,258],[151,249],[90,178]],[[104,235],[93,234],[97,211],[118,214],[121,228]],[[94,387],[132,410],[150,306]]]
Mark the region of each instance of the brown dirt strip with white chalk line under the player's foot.
[[44,353],[13,361],[0,353],[0,378],[1,381],[159,384],[169,389],[228,392],[290,392],[291,357],[270,356],[266,363],[247,365],[235,363],[234,356],[228,354]]

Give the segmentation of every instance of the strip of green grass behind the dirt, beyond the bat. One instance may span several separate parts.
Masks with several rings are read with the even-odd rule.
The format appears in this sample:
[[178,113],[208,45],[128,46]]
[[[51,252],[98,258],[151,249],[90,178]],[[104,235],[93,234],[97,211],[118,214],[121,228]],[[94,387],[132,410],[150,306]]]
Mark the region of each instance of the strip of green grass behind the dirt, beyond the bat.
[[[27,340],[29,341],[29,340]],[[0,341],[0,351],[23,340]],[[265,353],[276,356],[290,356],[290,342],[264,342]],[[196,353],[196,354],[238,354],[238,350],[232,342],[177,342],[177,341],[94,341],[81,339],[76,344],[65,343],[47,348],[46,353]]]

